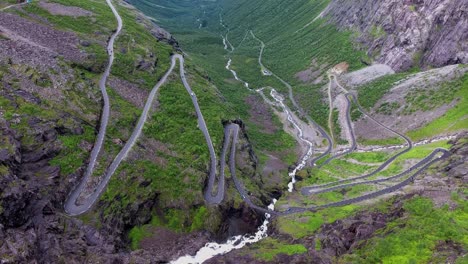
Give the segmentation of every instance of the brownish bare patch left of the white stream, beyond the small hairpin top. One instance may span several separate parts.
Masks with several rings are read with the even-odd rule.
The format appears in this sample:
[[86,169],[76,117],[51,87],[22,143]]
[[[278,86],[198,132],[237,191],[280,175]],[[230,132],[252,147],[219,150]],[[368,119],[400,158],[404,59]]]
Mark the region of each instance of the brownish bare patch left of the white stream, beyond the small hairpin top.
[[251,95],[245,99],[250,106],[250,122],[255,123],[267,134],[274,134],[278,128],[273,123],[273,113],[270,107],[258,96]]

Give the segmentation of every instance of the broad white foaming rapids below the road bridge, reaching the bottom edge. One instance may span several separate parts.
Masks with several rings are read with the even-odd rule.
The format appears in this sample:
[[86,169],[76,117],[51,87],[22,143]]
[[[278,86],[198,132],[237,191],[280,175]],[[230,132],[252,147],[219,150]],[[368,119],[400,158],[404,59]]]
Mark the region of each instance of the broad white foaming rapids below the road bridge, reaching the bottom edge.
[[[268,206],[268,209],[275,209],[276,199],[273,199],[273,202]],[[195,256],[184,256],[177,260],[171,261],[171,264],[200,264],[208,259],[213,258],[217,255],[226,254],[234,249],[239,249],[245,245],[258,242],[268,236],[268,224],[270,223],[270,214],[265,214],[265,221],[263,224],[258,227],[258,230],[255,234],[243,235],[243,236],[234,236],[229,238],[226,243],[218,244],[216,242],[207,243],[204,247],[198,250]]]

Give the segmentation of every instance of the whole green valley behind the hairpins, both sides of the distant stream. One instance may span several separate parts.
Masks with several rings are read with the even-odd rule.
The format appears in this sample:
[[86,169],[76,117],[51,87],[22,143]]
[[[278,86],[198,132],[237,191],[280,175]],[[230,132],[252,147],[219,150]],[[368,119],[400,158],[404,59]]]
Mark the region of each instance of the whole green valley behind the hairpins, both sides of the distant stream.
[[[250,34],[245,38],[248,30],[253,30],[266,44],[263,56],[265,66],[294,86],[294,94],[300,105],[322,126],[326,125],[324,116],[327,116],[328,109],[321,100],[321,86],[303,84],[295,75],[310,67],[324,71],[342,61],[347,61],[351,69],[358,69],[364,66],[361,60],[366,58],[365,52],[356,49],[352,43],[351,32],[338,31],[323,19],[311,23],[311,18],[317,16],[328,1],[299,0],[286,3],[274,0],[268,5],[263,1],[247,0],[220,3],[203,1],[202,5],[192,3],[191,6],[190,2],[133,0],[132,4],[169,29],[184,51],[207,70],[222,94],[236,108],[245,109],[242,107],[245,105],[242,97],[246,93],[241,83],[233,81],[230,72],[220,71],[227,62],[219,36],[227,30],[220,26],[220,16],[230,29],[230,42],[235,47],[242,43],[232,54],[232,68],[238,71],[239,77],[254,88],[273,86],[283,93],[286,91],[286,87],[275,78],[261,75],[257,63],[259,43]],[[194,23],[197,15],[201,15],[194,10],[206,13],[206,27],[203,29],[198,29],[198,23]],[[271,23],[273,18],[284,23]],[[241,117],[245,119],[245,115]]]

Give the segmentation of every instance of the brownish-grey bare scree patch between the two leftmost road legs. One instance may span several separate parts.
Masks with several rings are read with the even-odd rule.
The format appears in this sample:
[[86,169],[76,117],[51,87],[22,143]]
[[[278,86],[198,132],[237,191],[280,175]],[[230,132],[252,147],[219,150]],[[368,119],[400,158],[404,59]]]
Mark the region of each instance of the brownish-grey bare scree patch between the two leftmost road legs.
[[112,87],[126,101],[129,101],[140,109],[143,109],[149,96],[148,91],[142,90],[138,87],[138,85],[119,78],[109,78],[109,86]]

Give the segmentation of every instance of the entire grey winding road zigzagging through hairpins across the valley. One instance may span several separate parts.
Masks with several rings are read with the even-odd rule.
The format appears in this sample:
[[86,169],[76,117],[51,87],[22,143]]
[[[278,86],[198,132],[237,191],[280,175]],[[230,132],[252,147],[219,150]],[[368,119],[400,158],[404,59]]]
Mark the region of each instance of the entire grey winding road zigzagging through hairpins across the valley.
[[[356,198],[352,198],[352,199],[348,199],[348,200],[344,200],[344,201],[340,201],[340,202],[335,202],[335,203],[329,203],[329,204],[320,205],[320,206],[307,207],[307,208],[290,208],[290,209],[288,209],[287,211],[284,211],[284,212],[273,211],[270,208],[265,209],[263,207],[260,207],[260,206],[258,206],[256,204],[254,204],[251,201],[251,199],[250,199],[247,191],[245,190],[243,184],[237,178],[235,156],[236,156],[236,146],[237,146],[237,140],[238,140],[238,136],[239,136],[238,134],[239,134],[239,129],[240,128],[239,128],[239,125],[237,125],[235,123],[227,124],[225,126],[225,128],[224,128],[224,144],[223,144],[223,148],[222,148],[222,152],[221,152],[221,160],[220,160],[220,164],[219,164],[220,171],[219,171],[219,175],[218,175],[218,183],[217,184],[215,183],[216,178],[217,178],[216,175],[218,174],[217,173],[218,163],[217,163],[217,158],[216,158],[216,153],[215,153],[215,149],[214,149],[214,146],[213,146],[213,142],[212,142],[212,139],[210,137],[210,134],[209,134],[205,119],[203,117],[202,111],[201,111],[200,106],[198,104],[197,97],[196,97],[195,93],[193,92],[193,90],[191,89],[191,87],[190,87],[190,85],[189,85],[189,83],[188,83],[188,81],[186,79],[185,68],[184,68],[184,58],[180,54],[175,54],[171,58],[171,66],[170,66],[169,70],[165,73],[165,75],[159,80],[159,82],[152,89],[152,91],[151,91],[151,93],[150,93],[150,95],[149,95],[149,97],[148,97],[148,99],[147,99],[147,101],[145,103],[144,110],[143,110],[143,112],[142,112],[142,114],[141,114],[141,116],[140,116],[140,118],[138,120],[138,123],[137,123],[134,131],[132,132],[132,135],[130,136],[129,140],[124,145],[124,147],[119,152],[119,154],[115,157],[115,159],[111,163],[111,165],[108,167],[103,179],[101,180],[101,182],[99,182],[98,186],[94,189],[94,191],[91,193],[91,195],[89,197],[87,197],[82,204],[78,205],[77,200],[80,197],[80,195],[83,193],[83,191],[85,190],[87,181],[89,180],[92,173],[94,172],[94,167],[95,167],[99,152],[100,152],[100,150],[102,148],[102,145],[104,143],[104,137],[105,137],[105,133],[106,133],[106,129],[107,129],[107,123],[108,123],[108,119],[109,119],[109,113],[110,113],[110,102],[109,102],[109,97],[107,95],[105,85],[106,85],[107,78],[110,75],[110,70],[111,70],[111,67],[112,67],[112,64],[113,64],[113,60],[114,60],[114,48],[113,48],[114,41],[117,38],[117,36],[119,35],[120,31],[122,30],[122,19],[120,18],[120,16],[117,13],[116,9],[112,5],[111,0],[107,0],[107,3],[109,5],[109,7],[112,9],[112,12],[114,13],[114,16],[117,19],[118,27],[117,27],[117,30],[115,31],[115,33],[111,36],[111,38],[109,40],[109,43],[108,43],[108,46],[107,46],[107,51],[108,51],[108,54],[109,54],[109,63],[108,63],[108,66],[106,67],[106,70],[105,70],[104,74],[102,75],[102,77],[101,77],[101,79],[99,81],[99,87],[101,89],[101,92],[102,92],[102,95],[103,95],[103,101],[104,101],[103,112],[102,112],[102,116],[101,116],[100,130],[99,130],[99,133],[98,133],[98,136],[97,136],[95,146],[94,146],[93,151],[92,151],[91,156],[90,156],[90,162],[88,164],[86,173],[85,173],[83,179],[81,180],[80,184],[73,191],[70,192],[70,195],[69,195],[67,201],[65,202],[65,205],[64,205],[65,211],[69,215],[73,215],[73,216],[74,215],[79,215],[79,214],[82,214],[82,213],[85,213],[86,211],[88,211],[93,206],[93,204],[95,204],[95,202],[97,201],[99,196],[102,194],[102,192],[105,190],[110,178],[115,173],[115,171],[119,167],[120,163],[126,158],[126,156],[130,152],[132,147],[135,145],[137,139],[141,135],[142,129],[144,127],[144,124],[146,123],[146,120],[148,118],[148,115],[149,115],[149,112],[150,112],[151,107],[153,105],[153,102],[154,102],[154,100],[155,100],[155,98],[157,96],[157,92],[158,92],[159,88],[167,81],[169,75],[173,72],[174,68],[176,67],[177,61],[179,61],[179,74],[180,74],[181,81],[182,81],[187,93],[190,95],[190,97],[192,99],[192,103],[193,103],[193,106],[194,106],[196,114],[197,114],[198,127],[202,131],[202,133],[203,133],[203,135],[205,137],[205,140],[206,140],[206,143],[207,143],[207,146],[208,146],[208,150],[209,150],[209,153],[210,153],[210,167],[209,167],[210,171],[209,171],[209,175],[208,175],[208,184],[207,184],[205,194],[204,194],[205,200],[206,200],[206,202],[208,204],[220,204],[224,200],[225,188],[226,188],[224,171],[225,171],[225,166],[226,166],[226,155],[227,155],[227,152],[228,152],[229,148],[230,148],[229,170],[230,170],[231,178],[232,178],[232,180],[234,182],[235,188],[237,189],[237,191],[241,195],[242,199],[251,208],[253,208],[253,209],[257,210],[257,211],[269,214],[269,215],[276,215],[276,216],[294,214],[294,213],[304,212],[304,211],[314,211],[314,210],[321,209],[321,208],[327,208],[327,207],[332,207],[332,206],[342,206],[342,205],[346,205],[346,204],[350,204],[350,203],[357,203],[357,202],[361,202],[361,201],[364,201],[364,200],[367,200],[367,199],[371,199],[371,198],[380,196],[380,195],[385,194],[385,193],[395,191],[396,189],[401,188],[401,187],[405,186],[406,184],[409,184],[412,180],[414,180],[414,177],[416,177],[419,173],[421,173],[425,168],[427,168],[428,166],[430,166],[434,162],[437,162],[437,161],[445,158],[446,156],[448,156],[449,152],[447,150],[436,149],[431,155],[429,155],[428,157],[426,157],[425,159],[423,159],[422,161],[420,161],[418,164],[414,165],[413,167],[411,167],[407,171],[405,171],[403,173],[400,173],[398,175],[392,176],[390,178],[377,179],[377,180],[366,181],[366,182],[355,182],[355,183],[351,183],[351,184],[344,184],[344,185],[334,186],[334,187],[331,187],[331,188],[328,188],[328,189],[323,189],[323,188],[327,188],[327,187],[332,186],[332,185],[343,184],[343,183],[354,181],[354,180],[357,180],[357,179],[363,179],[363,178],[371,177],[371,176],[375,175],[377,172],[383,170],[388,164],[393,162],[398,156],[402,155],[403,153],[408,152],[412,148],[412,142],[411,142],[411,140],[409,138],[407,138],[406,136],[404,136],[404,135],[402,135],[402,134],[400,134],[400,133],[398,133],[398,132],[396,132],[396,131],[388,128],[388,127],[386,127],[382,123],[380,123],[377,120],[373,119],[371,116],[369,116],[367,113],[365,113],[364,109],[362,109],[362,107],[359,105],[359,103],[357,101],[357,98],[353,94],[346,94],[346,98],[348,100],[348,108],[347,108],[348,125],[351,125],[350,114],[349,114],[350,104],[351,103],[349,102],[349,99],[348,99],[348,96],[351,96],[353,98],[353,101],[358,106],[358,109],[363,114],[368,116],[370,119],[372,119],[373,121],[375,121],[377,124],[381,125],[382,127],[385,127],[387,130],[392,131],[395,134],[397,134],[397,135],[401,136],[402,138],[404,138],[408,143],[408,148],[405,149],[404,151],[401,151],[400,153],[396,154],[395,156],[391,157],[389,160],[384,162],[377,170],[375,170],[372,173],[369,173],[369,174],[366,174],[366,175],[363,175],[363,176],[359,176],[359,177],[355,177],[355,178],[336,181],[336,182],[333,182],[333,183],[327,183],[327,184],[323,184],[323,185],[316,185],[316,186],[312,186],[312,187],[305,187],[305,188],[302,189],[302,193],[304,195],[309,195],[309,194],[314,193],[314,192],[315,193],[327,192],[327,191],[332,191],[332,190],[335,190],[335,189],[338,189],[338,188],[346,188],[346,187],[350,187],[350,186],[354,186],[354,185],[358,185],[358,184],[373,184],[373,183],[378,183],[380,181],[388,181],[388,180],[391,180],[391,179],[400,178],[400,177],[414,171],[417,168],[420,168],[420,169],[416,173],[414,173],[412,176],[410,176],[406,180],[404,180],[404,181],[402,181],[402,182],[400,182],[400,183],[398,183],[396,185],[384,188],[382,190],[379,190],[379,191],[376,191],[376,192],[373,192],[373,193],[365,194],[365,195],[362,195],[362,196],[359,196],[359,197],[356,197]],[[252,36],[254,38],[256,38],[255,35],[253,34],[253,32],[251,32],[251,34],[252,34]],[[256,39],[259,40],[258,38],[256,38]],[[261,42],[261,40],[259,40],[259,41]],[[265,45],[263,44],[263,42],[261,42],[261,43],[262,43],[262,49],[261,50],[263,52],[263,49],[264,49]],[[261,57],[259,59],[259,63],[261,63]],[[286,87],[288,87],[289,97],[290,97],[290,100],[292,101],[293,105],[297,109],[299,109],[299,112],[303,116],[305,116],[307,118],[307,120],[311,124],[314,124],[318,128],[318,130],[322,134],[322,136],[328,140],[328,142],[329,142],[328,150],[325,153],[323,153],[322,155],[320,155],[319,157],[315,158],[313,160],[313,164],[314,164],[314,161],[324,157],[325,155],[328,155],[328,153],[331,151],[332,144],[331,144],[330,137],[309,116],[304,114],[302,109],[297,105],[297,103],[294,100],[293,94],[292,94],[292,86],[289,83],[282,80],[277,75],[275,75],[274,73],[272,73],[271,71],[269,71],[264,66],[262,66],[262,67],[263,67],[264,70],[270,72],[273,76],[275,76],[278,80],[280,80]],[[336,77],[335,77],[335,80],[336,80]],[[261,89],[259,89],[259,90],[261,90]],[[290,111],[287,108],[287,106],[283,103],[282,97],[280,97],[279,94],[277,94],[277,93],[275,94],[275,92],[276,91],[274,89],[272,89],[272,91],[271,91],[272,98],[274,98],[277,101],[278,105],[280,105],[280,106],[282,106],[284,108],[283,110],[285,110],[286,112]],[[292,122],[293,124],[295,124],[294,120],[289,120],[289,121]],[[300,128],[298,129],[298,131],[301,131]],[[300,134],[300,138],[304,139],[302,134]],[[311,146],[312,143],[311,142],[309,142],[309,143],[310,143],[309,145]],[[312,148],[312,146],[311,146],[311,148]],[[441,155],[438,158],[434,158],[435,155],[437,155],[438,153],[443,153],[443,155]],[[305,160],[303,159],[304,164],[299,164],[296,167],[296,169],[300,170],[303,166],[305,166],[305,162],[310,158],[311,155],[312,155],[312,152],[310,150],[307,153],[307,155],[304,157]],[[321,190],[317,190],[318,188],[321,188]],[[215,193],[215,189],[216,189],[216,193]]]

